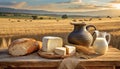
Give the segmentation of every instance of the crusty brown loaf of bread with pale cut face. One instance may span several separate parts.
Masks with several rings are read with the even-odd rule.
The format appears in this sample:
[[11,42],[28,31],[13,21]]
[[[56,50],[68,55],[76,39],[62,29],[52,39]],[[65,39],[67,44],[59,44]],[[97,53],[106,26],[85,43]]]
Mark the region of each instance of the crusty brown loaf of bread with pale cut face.
[[8,48],[9,54],[12,56],[22,56],[30,54],[39,49],[39,43],[31,38],[21,38],[14,40]]

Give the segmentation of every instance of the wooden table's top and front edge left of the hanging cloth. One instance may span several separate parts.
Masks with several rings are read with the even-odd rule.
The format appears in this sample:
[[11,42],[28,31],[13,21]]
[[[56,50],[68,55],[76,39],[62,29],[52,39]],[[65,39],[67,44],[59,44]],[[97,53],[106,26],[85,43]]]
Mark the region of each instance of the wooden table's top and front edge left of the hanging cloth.
[[13,57],[6,50],[0,52],[0,66],[11,67],[56,67],[61,59],[45,59],[33,53],[27,56]]

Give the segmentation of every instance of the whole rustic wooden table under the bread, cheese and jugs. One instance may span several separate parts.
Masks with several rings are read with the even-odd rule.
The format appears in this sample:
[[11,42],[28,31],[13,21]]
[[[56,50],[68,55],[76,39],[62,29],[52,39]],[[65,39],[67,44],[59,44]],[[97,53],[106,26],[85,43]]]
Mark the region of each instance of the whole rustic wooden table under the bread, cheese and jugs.
[[[37,53],[27,56],[12,57],[7,50],[0,51],[0,67],[41,67],[39,69],[47,69],[49,67],[56,69],[62,59],[45,59]],[[86,66],[87,69],[120,69],[120,51],[116,48],[109,48],[105,55],[97,56],[91,59],[79,59],[79,62]]]

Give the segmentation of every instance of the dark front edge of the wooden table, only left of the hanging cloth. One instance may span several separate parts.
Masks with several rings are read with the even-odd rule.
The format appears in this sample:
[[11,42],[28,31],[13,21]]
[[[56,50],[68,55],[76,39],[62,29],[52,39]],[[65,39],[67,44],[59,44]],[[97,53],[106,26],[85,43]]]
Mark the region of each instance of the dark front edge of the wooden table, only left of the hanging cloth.
[[0,66],[9,67],[57,67],[59,62],[2,62]]

